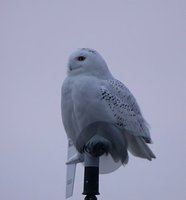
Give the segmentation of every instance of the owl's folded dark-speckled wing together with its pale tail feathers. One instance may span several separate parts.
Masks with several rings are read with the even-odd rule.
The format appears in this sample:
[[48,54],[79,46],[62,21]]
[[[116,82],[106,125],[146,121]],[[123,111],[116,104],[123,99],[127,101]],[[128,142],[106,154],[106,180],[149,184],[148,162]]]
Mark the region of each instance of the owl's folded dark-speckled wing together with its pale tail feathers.
[[156,158],[146,143],[152,143],[148,125],[136,99],[123,83],[116,79],[105,81],[100,89],[101,99],[110,109],[115,123],[123,129],[128,150],[137,157]]

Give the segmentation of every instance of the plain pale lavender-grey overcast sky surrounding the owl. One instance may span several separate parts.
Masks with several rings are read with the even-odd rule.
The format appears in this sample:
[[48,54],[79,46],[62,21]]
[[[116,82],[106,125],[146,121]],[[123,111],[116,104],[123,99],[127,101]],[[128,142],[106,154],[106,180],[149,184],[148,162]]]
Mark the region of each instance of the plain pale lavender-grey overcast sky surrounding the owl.
[[[100,200],[186,199],[186,1],[0,1],[0,199],[61,200],[68,55],[96,49],[151,126],[153,162],[100,177]],[[83,199],[83,167],[74,196]]]

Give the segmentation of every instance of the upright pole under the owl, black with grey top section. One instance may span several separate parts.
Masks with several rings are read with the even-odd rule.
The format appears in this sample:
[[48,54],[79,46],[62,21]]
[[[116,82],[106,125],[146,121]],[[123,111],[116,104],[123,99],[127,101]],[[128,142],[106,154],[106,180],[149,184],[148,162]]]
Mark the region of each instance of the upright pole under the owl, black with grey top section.
[[84,170],[84,200],[97,200],[99,195],[99,157],[93,157],[85,153],[85,170]]

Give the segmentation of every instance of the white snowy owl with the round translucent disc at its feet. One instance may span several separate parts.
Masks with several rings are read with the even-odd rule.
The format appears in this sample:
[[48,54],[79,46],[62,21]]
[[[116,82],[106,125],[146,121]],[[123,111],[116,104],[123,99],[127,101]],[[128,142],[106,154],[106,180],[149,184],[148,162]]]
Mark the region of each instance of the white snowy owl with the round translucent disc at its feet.
[[62,120],[79,158],[100,157],[100,173],[128,162],[128,152],[152,160],[151,137],[136,99],[115,79],[95,50],[81,48],[69,57],[62,85]]

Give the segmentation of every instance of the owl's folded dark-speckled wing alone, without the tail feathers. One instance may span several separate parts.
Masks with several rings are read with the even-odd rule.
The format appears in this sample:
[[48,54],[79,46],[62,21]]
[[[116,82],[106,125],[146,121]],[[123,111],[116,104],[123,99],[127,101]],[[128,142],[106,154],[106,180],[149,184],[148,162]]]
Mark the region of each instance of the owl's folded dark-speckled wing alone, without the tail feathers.
[[133,136],[143,137],[151,143],[148,125],[136,99],[128,88],[116,79],[106,80],[100,87],[101,100],[110,109],[116,125]]

